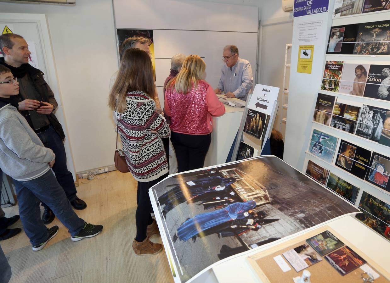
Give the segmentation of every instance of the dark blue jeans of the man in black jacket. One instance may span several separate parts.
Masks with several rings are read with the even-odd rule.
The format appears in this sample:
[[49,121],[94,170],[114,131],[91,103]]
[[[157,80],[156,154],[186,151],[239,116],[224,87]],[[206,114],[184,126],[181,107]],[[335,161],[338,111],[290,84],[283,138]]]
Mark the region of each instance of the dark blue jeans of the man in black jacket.
[[[43,133],[37,134],[41,139],[43,145],[53,150],[55,154],[55,163],[53,166],[53,171],[55,177],[57,178],[58,183],[64,189],[66,197],[71,202],[76,199],[76,186],[74,186],[73,175],[69,172],[68,167],[66,166],[66,153],[64,142],[61,140],[60,136],[54,130],[54,127],[50,125],[49,129]],[[48,207],[42,200],[42,205]],[[57,215],[57,214],[56,214]]]

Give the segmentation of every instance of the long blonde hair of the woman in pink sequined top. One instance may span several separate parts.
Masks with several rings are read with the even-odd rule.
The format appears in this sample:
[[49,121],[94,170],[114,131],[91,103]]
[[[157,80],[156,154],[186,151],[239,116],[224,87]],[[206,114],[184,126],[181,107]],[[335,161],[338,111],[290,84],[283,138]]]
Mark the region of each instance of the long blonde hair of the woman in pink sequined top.
[[179,74],[170,83],[170,87],[175,88],[177,93],[188,94],[191,91],[192,84],[196,89],[198,81],[202,80],[206,63],[198,55],[189,55],[184,60]]

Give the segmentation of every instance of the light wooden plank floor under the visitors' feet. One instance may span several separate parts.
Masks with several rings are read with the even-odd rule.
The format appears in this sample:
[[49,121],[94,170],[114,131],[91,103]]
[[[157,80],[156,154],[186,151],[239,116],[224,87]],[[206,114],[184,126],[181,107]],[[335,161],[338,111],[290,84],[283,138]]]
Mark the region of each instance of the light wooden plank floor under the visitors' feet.
[[[105,179],[80,182],[77,195],[88,207],[76,213],[87,222],[103,225],[103,231],[91,239],[72,242],[56,218],[48,226],[58,225],[60,230],[41,251],[32,251],[23,230],[1,241],[12,269],[10,282],[173,282],[165,251],[152,256],[133,253],[136,188],[129,173],[118,171],[108,173]],[[18,214],[18,207],[4,211],[10,217]],[[21,227],[20,221],[12,226],[16,227]],[[161,238],[152,241],[161,243]]]

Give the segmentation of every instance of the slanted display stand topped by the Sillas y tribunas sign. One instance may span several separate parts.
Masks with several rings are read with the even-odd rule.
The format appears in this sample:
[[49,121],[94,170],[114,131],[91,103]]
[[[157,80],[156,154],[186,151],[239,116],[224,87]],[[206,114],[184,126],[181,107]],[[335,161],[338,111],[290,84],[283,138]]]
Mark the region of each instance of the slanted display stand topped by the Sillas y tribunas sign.
[[278,93],[278,87],[257,84],[248,95],[231,161],[261,154],[275,122]]

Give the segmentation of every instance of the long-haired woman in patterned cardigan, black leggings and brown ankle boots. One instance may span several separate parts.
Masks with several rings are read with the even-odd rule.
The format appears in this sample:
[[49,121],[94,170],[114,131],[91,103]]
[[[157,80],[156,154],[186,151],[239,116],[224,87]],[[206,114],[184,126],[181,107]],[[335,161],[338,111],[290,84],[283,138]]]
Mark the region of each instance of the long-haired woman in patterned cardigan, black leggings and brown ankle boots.
[[112,87],[108,105],[118,119],[126,163],[137,186],[135,221],[137,236],[133,241],[136,255],[154,255],[161,244],[149,241],[160,234],[151,217],[149,188],[168,175],[167,157],[161,138],[170,134],[165,119],[156,112],[153,67],[149,55],[138,48],[128,49]]

